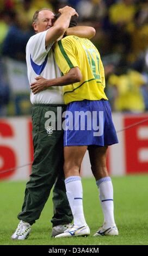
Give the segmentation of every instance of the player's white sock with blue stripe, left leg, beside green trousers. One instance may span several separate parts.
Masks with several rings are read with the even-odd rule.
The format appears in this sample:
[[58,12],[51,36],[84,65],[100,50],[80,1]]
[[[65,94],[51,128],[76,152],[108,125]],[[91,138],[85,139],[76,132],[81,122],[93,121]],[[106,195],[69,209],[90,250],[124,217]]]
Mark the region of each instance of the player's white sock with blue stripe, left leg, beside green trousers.
[[70,176],[65,179],[66,194],[71,207],[74,225],[86,225],[83,213],[83,188],[80,176]]

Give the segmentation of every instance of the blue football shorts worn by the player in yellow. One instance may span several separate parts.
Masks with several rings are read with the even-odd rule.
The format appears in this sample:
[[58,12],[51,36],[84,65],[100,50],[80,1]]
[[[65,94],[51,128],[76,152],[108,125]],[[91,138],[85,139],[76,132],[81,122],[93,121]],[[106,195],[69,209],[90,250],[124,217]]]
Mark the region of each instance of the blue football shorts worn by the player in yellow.
[[118,143],[108,100],[69,103],[64,120],[64,147]]

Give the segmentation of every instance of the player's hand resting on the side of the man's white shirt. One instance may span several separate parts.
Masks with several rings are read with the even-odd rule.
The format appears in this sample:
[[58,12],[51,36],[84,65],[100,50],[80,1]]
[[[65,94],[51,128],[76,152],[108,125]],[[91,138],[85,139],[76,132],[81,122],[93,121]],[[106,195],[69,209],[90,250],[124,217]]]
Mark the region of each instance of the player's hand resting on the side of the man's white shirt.
[[33,94],[39,93],[42,90],[47,89],[47,81],[48,81],[47,79],[45,79],[44,77],[38,76],[35,78],[35,80],[36,81],[30,85],[30,88]]

